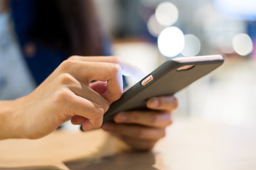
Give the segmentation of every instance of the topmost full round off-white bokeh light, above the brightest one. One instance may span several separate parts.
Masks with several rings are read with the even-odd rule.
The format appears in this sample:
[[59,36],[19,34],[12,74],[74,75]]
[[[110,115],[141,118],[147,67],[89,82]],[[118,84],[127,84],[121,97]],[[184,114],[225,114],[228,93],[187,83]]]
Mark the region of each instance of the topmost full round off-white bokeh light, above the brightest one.
[[162,26],[171,26],[178,20],[178,8],[169,1],[162,2],[156,7],[155,15]]

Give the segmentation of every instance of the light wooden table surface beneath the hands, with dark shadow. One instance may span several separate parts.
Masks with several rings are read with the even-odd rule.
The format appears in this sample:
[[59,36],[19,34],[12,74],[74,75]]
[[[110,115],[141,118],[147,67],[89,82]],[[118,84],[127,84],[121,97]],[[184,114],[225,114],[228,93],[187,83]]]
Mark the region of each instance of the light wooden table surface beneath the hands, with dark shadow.
[[256,125],[177,119],[151,152],[102,130],[0,142],[0,169],[256,169]]

